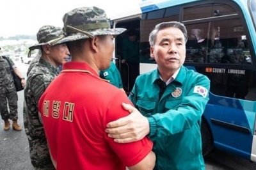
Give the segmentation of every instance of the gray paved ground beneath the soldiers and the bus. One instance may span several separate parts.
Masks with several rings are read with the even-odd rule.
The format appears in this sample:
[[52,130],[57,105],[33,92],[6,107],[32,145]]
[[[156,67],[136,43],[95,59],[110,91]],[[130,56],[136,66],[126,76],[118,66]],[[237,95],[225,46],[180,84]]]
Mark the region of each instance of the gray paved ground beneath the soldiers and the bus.
[[[28,65],[16,62],[16,65],[26,77]],[[22,108],[23,91],[19,96],[19,123],[23,127]],[[205,158],[207,170],[255,170],[256,164],[248,160],[234,157],[215,150]],[[12,129],[3,130],[3,120],[0,120],[0,170],[33,170],[29,160],[28,139],[24,130],[16,132]]]

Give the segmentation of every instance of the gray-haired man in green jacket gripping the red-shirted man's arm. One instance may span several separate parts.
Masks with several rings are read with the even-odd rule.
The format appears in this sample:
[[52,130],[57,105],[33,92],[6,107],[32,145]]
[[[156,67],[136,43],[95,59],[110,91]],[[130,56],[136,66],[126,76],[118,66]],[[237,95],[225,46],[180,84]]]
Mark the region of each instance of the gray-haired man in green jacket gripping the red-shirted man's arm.
[[209,100],[210,81],[183,65],[186,27],[180,22],[157,24],[149,35],[150,56],[157,69],[140,75],[129,96],[131,114],[107,125],[117,143],[148,135],[154,142],[157,170],[205,169],[200,121]]

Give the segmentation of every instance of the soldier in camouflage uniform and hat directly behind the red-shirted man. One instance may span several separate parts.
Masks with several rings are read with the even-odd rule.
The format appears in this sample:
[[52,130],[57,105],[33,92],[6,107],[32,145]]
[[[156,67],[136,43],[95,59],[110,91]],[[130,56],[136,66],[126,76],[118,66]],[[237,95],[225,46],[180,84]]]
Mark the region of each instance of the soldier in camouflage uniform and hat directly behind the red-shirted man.
[[37,33],[38,44],[29,47],[29,50],[39,49],[38,54],[42,54],[38,61],[30,65],[24,89],[24,127],[29,141],[31,164],[35,169],[54,169],[44,128],[38,116],[38,100],[59,74],[58,66],[68,59],[66,44],[58,43],[63,37],[60,27],[43,26]]

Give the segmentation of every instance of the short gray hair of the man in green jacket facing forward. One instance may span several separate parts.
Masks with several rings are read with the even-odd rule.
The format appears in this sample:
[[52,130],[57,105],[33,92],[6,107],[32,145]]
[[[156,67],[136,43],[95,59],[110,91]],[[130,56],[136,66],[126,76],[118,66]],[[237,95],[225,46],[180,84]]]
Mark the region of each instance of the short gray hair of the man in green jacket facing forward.
[[162,22],[160,24],[157,24],[154,29],[151,31],[150,35],[149,35],[149,39],[148,42],[150,44],[150,46],[154,46],[155,42],[156,42],[156,36],[157,33],[161,30],[164,29],[166,27],[177,27],[180,29],[180,31],[182,31],[184,37],[185,37],[185,43],[188,40],[188,32],[186,27],[184,26],[184,24],[182,24],[181,22],[177,22],[177,21],[170,21],[170,22]]

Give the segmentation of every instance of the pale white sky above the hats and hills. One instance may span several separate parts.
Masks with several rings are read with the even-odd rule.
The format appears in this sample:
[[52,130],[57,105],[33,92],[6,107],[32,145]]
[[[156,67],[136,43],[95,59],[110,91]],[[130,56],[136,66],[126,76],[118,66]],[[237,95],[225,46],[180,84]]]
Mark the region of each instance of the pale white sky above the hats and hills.
[[97,6],[108,17],[124,12],[141,0],[2,0],[0,36],[36,35],[45,25],[63,27],[66,12],[82,6]]

